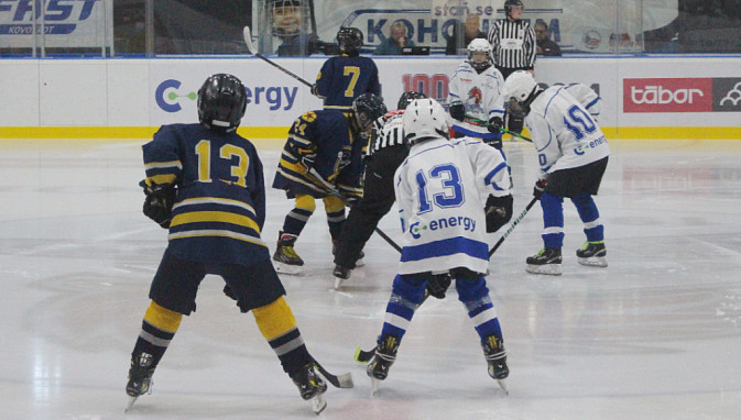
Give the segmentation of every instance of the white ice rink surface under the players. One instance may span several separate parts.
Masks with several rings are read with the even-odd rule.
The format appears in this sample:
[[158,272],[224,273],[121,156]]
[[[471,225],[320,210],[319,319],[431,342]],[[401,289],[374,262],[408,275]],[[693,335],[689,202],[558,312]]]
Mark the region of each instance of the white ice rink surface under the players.
[[[141,213],[143,142],[0,142],[0,418],[310,419],[251,314],[207,277],[198,309],[123,413],[130,352],[166,232]],[[283,142],[258,143],[272,183]],[[531,144],[506,143],[514,211],[537,177]],[[455,290],[417,311],[379,394],[352,360],[381,330],[399,254],[374,235],[367,265],[333,289],[324,208],[282,276],[309,351],[353,389],[331,388],[324,419],[741,418],[741,142],[612,141],[597,203],[609,267],[577,264],[581,223],[566,209],[564,275],[525,273],[540,206],[492,256],[488,276],[511,375],[489,378]],[[268,189],[275,248],[293,207]],[[380,228],[399,240],[395,210]],[[491,244],[499,234],[491,235]]]

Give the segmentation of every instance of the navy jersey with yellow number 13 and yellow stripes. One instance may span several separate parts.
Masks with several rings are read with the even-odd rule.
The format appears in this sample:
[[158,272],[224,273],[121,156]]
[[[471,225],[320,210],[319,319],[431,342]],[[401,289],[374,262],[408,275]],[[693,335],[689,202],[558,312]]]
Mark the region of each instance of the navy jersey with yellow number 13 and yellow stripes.
[[237,133],[163,125],[143,147],[146,184],[177,185],[168,248],[183,259],[252,265],[270,259],[262,163]]

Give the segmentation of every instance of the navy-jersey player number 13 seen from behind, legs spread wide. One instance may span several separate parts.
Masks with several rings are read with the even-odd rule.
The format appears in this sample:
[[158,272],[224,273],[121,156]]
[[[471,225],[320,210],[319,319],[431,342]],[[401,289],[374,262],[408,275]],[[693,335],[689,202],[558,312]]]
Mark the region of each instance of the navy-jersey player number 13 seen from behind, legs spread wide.
[[226,281],[315,411],[327,386],[315,372],[285,289],[260,233],[265,221],[262,163],[250,141],[236,133],[247,106],[242,82],[210,76],[198,90],[198,124],[163,125],[143,148],[144,213],[167,228],[168,245],[152,280],[152,299],[131,353],[130,402],[151,393],[152,375],[184,314],[196,309],[206,274]]

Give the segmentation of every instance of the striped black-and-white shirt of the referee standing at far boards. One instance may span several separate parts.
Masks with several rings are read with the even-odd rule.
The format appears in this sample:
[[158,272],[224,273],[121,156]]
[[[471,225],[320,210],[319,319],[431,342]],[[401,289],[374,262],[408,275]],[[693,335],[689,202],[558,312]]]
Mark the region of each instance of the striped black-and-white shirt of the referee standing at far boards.
[[535,66],[535,31],[530,23],[506,19],[494,22],[489,31],[494,66],[532,69]]

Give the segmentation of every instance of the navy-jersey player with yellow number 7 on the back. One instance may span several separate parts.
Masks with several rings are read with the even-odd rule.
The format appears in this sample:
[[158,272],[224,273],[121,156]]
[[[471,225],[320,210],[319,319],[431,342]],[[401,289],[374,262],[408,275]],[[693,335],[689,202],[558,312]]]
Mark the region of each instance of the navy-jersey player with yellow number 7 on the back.
[[360,56],[363,35],[359,29],[340,27],[337,43],[339,55],[324,63],[312,93],[324,99],[324,109],[349,111],[362,93],[381,96],[379,70],[371,58]]

